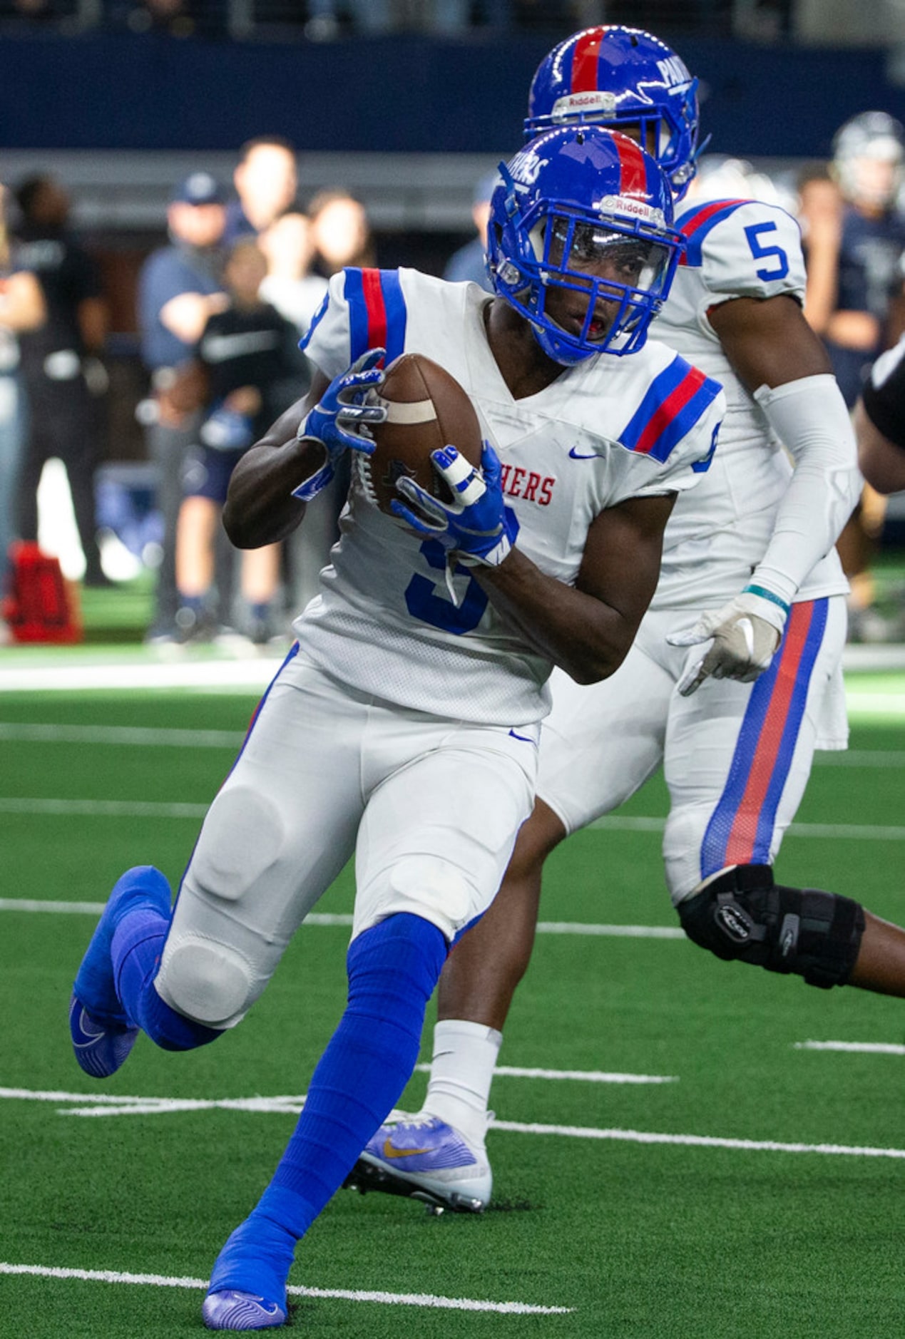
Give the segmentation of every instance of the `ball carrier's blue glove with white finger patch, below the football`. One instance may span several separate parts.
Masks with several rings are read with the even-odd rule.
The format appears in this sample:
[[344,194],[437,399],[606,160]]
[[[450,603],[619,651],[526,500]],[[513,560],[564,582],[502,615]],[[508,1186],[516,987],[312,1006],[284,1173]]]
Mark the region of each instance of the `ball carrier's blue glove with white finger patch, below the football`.
[[434,469],[450,487],[452,502],[432,497],[414,479],[396,479],[406,498],[390,503],[398,516],[419,534],[438,540],[455,552],[466,568],[497,568],[509,554],[518,522],[506,511],[499,459],[490,442],[483,443],[481,469],[475,470],[454,446],[431,451]]

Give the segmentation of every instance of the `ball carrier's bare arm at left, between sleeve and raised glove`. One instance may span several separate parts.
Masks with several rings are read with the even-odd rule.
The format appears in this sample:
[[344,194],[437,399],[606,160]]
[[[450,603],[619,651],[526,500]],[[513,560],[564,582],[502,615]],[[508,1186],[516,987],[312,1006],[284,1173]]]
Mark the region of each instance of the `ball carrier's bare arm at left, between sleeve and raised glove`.
[[224,529],[237,549],[260,549],[285,540],[305,514],[292,490],[324,463],[324,449],[297,439],[305,415],[329,382],[316,372],[308,394],[291,404],[241,458],[229,481]]

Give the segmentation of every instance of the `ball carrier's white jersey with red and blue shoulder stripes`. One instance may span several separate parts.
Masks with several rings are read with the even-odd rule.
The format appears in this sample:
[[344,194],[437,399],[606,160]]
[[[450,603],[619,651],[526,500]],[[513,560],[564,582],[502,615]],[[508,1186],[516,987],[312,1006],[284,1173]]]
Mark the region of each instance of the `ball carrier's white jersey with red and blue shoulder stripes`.
[[[600,511],[684,491],[703,477],[723,392],[673,349],[648,341],[513,399],[485,332],[489,301],[477,284],[347,269],[331,280],[305,352],[331,379],[374,347],[387,349],[387,363],[418,352],[444,367],[499,455],[518,548],[573,584]],[[549,710],[550,661],[506,627],[467,568],[447,582],[439,542],[378,510],[355,469],[332,565],[295,628],[320,668],[404,707],[509,726]]]

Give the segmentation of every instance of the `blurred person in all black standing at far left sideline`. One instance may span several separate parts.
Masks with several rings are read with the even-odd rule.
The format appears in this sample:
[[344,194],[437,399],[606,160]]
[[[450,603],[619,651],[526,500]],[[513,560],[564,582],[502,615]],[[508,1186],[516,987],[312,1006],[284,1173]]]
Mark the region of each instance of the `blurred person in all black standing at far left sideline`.
[[107,333],[107,304],[96,266],[70,232],[70,197],[51,174],[36,174],[16,190],[20,224],[17,264],[37,274],[47,320],[20,336],[28,431],[19,485],[19,533],[37,540],[37,485],[44,463],[66,466],[84,584],[106,585],[95,525],[94,475],[100,459],[102,402],[107,378],[99,355]]

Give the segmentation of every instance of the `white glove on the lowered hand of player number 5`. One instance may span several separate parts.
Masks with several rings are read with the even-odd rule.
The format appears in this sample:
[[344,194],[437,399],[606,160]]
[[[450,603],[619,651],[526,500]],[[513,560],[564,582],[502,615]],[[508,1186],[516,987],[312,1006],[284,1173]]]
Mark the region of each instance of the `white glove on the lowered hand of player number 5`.
[[676,684],[688,698],[710,675],[754,683],[770,667],[789,617],[789,605],[763,586],[747,586],[722,609],[703,613],[688,632],[667,636],[671,647],[712,645]]

